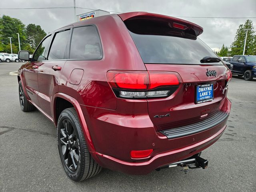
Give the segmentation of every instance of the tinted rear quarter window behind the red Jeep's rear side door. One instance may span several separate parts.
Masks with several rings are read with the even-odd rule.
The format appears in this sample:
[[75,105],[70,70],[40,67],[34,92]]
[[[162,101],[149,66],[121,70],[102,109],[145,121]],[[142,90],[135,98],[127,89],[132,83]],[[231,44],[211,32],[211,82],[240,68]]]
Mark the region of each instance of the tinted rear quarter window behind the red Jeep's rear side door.
[[99,59],[102,56],[100,37],[94,26],[73,29],[70,59]]

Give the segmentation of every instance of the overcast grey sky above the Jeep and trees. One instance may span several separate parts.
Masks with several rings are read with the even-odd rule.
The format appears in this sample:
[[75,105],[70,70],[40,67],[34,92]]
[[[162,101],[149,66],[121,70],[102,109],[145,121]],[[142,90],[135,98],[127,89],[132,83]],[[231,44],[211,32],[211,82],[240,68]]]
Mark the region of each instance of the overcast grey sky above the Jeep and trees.
[[[73,6],[73,0],[1,0],[0,8]],[[168,16],[256,17],[256,0],[76,0],[76,6],[116,12],[146,11]],[[77,14],[91,10],[76,9]],[[24,24],[40,25],[46,33],[74,22],[73,9],[0,10]],[[243,19],[182,18],[204,28],[200,38],[212,49],[230,46]],[[256,29],[256,18],[251,18]]]

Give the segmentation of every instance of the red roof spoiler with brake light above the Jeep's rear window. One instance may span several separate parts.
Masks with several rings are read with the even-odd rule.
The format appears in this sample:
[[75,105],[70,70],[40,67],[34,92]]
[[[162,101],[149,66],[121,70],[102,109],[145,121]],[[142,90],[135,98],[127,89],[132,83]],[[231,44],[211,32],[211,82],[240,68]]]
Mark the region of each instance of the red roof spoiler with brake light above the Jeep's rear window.
[[127,20],[134,20],[134,19],[152,19],[152,20],[159,20],[159,21],[165,21],[169,23],[169,26],[172,28],[176,28],[178,30],[194,30],[195,36],[198,36],[202,34],[203,28],[197,24],[194,24],[192,22],[170,17],[166,15],[161,14],[154,14],[154,13],[148,13],[148,12],[128,12],[128,13],[122,13],[118,14],[120,18],[123,21]]

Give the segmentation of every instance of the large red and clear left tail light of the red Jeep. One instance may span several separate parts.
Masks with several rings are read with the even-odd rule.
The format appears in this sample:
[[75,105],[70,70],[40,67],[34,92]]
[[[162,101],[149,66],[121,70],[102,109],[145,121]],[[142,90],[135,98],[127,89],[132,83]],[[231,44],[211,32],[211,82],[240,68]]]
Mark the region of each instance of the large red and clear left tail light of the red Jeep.
[[107,79],[117,97],[155,98],[170,96],[182,82],[176,72],[108,71]]

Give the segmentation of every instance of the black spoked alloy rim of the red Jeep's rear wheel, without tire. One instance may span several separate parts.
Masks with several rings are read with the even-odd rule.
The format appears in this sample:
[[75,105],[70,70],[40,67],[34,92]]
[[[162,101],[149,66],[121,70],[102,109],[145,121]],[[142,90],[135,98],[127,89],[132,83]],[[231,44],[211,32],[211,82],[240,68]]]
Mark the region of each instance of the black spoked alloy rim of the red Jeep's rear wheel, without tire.
[[79,140],[76,135],[71,122],[68,119],[63,120],[60,128],[60,145],[65,164],[71,172],[77,170],[80,159]]

